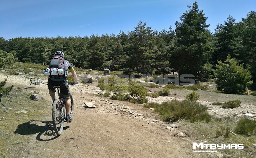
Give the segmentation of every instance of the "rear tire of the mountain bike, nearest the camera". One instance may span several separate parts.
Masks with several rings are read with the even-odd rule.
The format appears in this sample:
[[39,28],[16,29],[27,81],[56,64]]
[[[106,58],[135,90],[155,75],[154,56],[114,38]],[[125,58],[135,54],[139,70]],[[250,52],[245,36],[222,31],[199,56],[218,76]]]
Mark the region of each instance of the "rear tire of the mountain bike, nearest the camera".
[[63,130],[62,107],[59,100],[52,104],[52,122],[55,133],[59,136]]

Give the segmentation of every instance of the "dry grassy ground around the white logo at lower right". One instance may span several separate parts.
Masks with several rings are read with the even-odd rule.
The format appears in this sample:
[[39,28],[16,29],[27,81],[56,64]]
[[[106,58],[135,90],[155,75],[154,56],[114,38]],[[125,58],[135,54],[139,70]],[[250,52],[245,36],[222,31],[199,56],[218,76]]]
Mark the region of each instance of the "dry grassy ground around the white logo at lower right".
[[[220,122],[214,119],[207,124],[204,122],[190,123],[186,120],[179,121],[179,130],[185,132],[190,138],[194,138],[195,142],[204,142],[205,144],[244,144],[244,149],[217,149],[218,152],[224,154],[224,157],[230,158],[254,158],[256,157],[255,144],[256,137],[238,134],[235,130],[237,122],[233,120],[227,122],[223,120]],[[235,132],[233,135],[231,132]]]

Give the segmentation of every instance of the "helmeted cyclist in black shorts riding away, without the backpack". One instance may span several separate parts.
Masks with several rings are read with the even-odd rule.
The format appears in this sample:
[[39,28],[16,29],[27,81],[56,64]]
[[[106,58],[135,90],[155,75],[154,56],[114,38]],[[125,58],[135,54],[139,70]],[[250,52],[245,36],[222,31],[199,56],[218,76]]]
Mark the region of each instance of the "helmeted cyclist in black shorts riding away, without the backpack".
[[[74,77],[74,84],[78,84],[76,71],[74,70],[72,64],[64,59],[64,53],[62,51],[56,51],[54,53],[55,56],[60,56],[63,59],[62,67],[64,67],[64,70],[69,70],[73,77]],[[51,65],[51,63],[50,63]],[[49,68],[50,68],[49,65]],[[52,97],[52,103],[55,100],[55,92],[56,90],[53,88],[54,86],[59,85],[60,86],[60,96],[65,99],[65,105],[66,105],[66,113],[67,113],[67,122],[71,122],[72,118],[70,117],[71,112],[71,101],[70,101],[70,90],[68,87],[68,81],[67,81],[68,71],[65,71],[64,75],[57,75],[57,76],[48,76],[48,89],[49,94]]]

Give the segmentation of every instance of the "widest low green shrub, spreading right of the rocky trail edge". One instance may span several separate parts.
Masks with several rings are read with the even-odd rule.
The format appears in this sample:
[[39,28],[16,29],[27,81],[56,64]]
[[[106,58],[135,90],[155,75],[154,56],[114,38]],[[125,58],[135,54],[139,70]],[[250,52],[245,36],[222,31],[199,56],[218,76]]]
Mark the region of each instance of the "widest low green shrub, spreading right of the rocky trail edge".
[[187,100],[172,100],[161,104],[147,103],[144,104],[144,107],[154,108],[160,113],[163,120],[171,122],[180,119],[190,120],[191,122],[209,122],[212,119],[212,116],[207,112],[208,108],[206,106]]

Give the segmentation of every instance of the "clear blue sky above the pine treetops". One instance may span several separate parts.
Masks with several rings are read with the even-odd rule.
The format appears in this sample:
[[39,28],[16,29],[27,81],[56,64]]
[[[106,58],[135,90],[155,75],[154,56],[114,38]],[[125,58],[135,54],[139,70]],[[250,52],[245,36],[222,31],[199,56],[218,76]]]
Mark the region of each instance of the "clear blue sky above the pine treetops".
[[[175,29],[195,0],[0,0],[0,37],[69,37],[133,31],[139,21],[152,30]],[[197,0],[214,32],[228,16],[236,22],[256,11],[256,0]]]

